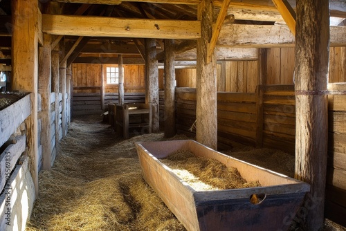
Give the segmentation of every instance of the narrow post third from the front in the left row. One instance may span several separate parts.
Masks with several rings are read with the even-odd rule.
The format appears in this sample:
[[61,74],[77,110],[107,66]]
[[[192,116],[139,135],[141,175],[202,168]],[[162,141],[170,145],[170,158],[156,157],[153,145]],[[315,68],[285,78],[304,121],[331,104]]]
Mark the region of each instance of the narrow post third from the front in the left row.
[[[53,156],[55,157],[58,152],[59,147],[59,92],[60,92],[60,74],[59,74],[59,45],[57,45],[52,50],[52,91],[55,93],[55,142],[53,145],[53,150],[55,148],[55,153]],[[54,159],[53,159],[54,161]],[[53,163],[51,163],[53,165]]]

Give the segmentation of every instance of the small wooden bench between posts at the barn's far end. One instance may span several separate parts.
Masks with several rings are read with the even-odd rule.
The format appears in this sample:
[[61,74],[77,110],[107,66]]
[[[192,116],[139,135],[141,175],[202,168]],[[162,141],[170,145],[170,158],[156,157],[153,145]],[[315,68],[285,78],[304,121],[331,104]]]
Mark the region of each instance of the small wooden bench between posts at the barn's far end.
[[152,133],[152,104],[116,105],[116,131],[125,139],[129,138],[129,129],[147,129]]

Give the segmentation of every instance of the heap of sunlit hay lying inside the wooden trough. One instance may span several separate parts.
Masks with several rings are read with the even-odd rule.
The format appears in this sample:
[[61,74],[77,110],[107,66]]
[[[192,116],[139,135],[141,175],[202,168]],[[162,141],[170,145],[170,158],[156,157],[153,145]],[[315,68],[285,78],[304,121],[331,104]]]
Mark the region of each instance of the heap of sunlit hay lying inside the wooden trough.
[[161,159],[194,190],[230,190],[259,187],[260,183],[246,182],[235,167],[226,167],[218,160],[194,156],[191,151],[178,150]]

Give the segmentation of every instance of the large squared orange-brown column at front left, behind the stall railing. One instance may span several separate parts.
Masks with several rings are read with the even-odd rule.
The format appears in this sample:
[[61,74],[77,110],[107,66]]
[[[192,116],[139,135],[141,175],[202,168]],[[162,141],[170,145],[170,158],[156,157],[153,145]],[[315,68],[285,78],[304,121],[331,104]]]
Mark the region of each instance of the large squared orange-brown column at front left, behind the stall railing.
[[[26,119],[30,173],[38,195],[38,1],[13,0],[12,6],[12,89],[31,92],[31,114]],[[35,201],[35,198],[30,198]]]

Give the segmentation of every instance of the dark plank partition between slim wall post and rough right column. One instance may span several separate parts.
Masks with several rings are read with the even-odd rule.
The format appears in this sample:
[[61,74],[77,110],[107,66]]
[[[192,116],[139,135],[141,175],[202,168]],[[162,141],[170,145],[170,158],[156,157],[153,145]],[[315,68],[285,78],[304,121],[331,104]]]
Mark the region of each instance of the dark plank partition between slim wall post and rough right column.
[[294,85],[266,85],[263,91],[263,147],[294,154]]

